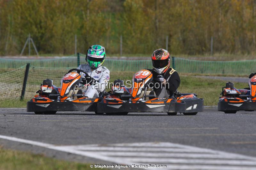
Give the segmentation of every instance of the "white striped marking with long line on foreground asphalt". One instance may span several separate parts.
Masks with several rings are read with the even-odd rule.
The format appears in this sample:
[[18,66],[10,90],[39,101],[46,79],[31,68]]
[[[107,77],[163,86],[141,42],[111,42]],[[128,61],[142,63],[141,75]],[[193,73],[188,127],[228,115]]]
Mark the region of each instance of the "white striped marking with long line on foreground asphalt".
[[169,142],[58,146],[4,135],[0,138],[130,166],[156,164],[167,165],[165,169],[186,170],[256,169],[255,157]]

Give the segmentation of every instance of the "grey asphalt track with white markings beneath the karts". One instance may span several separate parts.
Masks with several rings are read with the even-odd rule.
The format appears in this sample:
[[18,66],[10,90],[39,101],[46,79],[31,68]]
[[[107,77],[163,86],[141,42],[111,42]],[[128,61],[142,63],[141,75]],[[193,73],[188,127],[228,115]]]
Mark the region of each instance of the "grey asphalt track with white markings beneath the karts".
[[0,108],[0,145],[106,165],[142,162],[167,165],[163,169],[256,169],[255,122],[255,112],[224,114],[217,108],[205,108],[196,116],[35,115],[26,109]]

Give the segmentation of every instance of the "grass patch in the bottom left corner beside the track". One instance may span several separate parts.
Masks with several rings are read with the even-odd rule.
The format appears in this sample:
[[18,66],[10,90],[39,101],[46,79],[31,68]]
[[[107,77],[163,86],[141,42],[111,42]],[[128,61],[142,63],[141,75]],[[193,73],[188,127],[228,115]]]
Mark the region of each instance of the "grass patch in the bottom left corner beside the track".
[[1,170],[27,170],[27,169],[74,169],[91,170],[90,164],[63,161],[45,157],[42,154],[32,154],[28,152],[14,151],[0,148],[0,169]]

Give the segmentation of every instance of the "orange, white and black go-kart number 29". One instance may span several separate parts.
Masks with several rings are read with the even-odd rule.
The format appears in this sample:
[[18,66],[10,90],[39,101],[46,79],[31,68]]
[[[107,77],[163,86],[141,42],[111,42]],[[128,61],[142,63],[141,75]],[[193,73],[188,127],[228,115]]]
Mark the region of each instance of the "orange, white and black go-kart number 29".
[[[149,84],[154,70],[142,69],[134,74],[132,87],[124,86],[124,81],[116,80],[108,96],[98,103],[98,114],[126,115],[129,112],[167,112],[176,115],[196,115],[203,111],[204,101],[194,93],[173,93],[169,98],[157,98]],[[156,72],[154,73],[156,74]]]

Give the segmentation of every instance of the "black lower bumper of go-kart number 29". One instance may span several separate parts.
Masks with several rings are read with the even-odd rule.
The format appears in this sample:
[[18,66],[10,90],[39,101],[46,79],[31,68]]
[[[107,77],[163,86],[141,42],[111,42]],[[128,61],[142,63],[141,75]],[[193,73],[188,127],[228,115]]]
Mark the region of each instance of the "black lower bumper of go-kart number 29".
[[[104,101],[105,100],[105,101]],[[180,102],[172,100],[169,103],[146,103],[145,101],[137,101],[132,103],[126,101],[124,103],[108,103],[103,99],[98,103],[98,113],[118,113],[118,112],[181,112],[192,113],[203,111],[203,99],[185,99]]]

